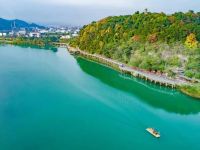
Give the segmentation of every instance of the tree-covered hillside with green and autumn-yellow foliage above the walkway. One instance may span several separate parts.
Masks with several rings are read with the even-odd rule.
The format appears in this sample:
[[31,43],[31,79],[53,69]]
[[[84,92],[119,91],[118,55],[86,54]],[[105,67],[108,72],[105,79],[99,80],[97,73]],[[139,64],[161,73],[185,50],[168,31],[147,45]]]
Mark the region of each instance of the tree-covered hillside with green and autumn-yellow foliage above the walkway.
[[83,27],[70,41],[97,53],[149,71],[173,76],[182,69],[200,79],[200,12],[143,13],[107,17]]

